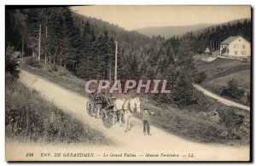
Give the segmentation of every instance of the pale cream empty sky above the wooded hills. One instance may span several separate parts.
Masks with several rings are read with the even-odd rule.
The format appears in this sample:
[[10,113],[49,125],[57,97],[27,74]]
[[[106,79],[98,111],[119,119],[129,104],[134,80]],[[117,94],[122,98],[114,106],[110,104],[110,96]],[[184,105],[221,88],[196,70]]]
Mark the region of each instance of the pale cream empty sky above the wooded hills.
[[251,18],[250,6],[77,6],[74,12],[126,30],[148,26],[189,26]]

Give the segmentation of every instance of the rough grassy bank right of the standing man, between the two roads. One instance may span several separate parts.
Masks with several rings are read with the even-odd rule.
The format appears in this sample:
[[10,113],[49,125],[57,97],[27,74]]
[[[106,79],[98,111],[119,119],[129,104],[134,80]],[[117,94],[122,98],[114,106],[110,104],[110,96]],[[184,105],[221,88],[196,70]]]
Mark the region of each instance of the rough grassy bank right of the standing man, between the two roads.
[[[142,98],[141,103],[155,112],[150,117],[153,125],[184,139],[231,146],[249,144],[249,128],[243,126],[243,123],[250,123],[249,112],[225,106],[201,92],[196,93],[201,95],[200,105],[183,109],[154,103],[147,98]],[[212,116],[214,109],[218,112],[218,121]]]

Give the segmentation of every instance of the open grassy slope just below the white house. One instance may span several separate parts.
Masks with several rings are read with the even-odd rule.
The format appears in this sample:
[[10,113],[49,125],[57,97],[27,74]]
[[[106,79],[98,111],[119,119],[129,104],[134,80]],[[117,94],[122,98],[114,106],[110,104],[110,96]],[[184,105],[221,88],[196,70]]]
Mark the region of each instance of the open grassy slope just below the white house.
[[[199,72],[204,72],[207,76],[206,80],[201,83],[201,85],[207,89],[210,89],[215,94],[222,94],[225,87],[228,86],[230,80],[234,79],[237,87],[242,89],[244,92],[247,92],[248,97],[250,96],[250,62],[221,58],[211,62],[195,60],[195,67]],[[247,106],[250,105],[249,101],[243,101],[242,96],[237,98],[231,98],[230,96],[224,97]]]

